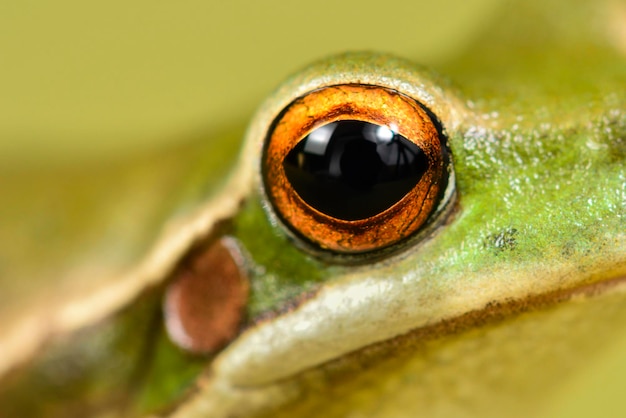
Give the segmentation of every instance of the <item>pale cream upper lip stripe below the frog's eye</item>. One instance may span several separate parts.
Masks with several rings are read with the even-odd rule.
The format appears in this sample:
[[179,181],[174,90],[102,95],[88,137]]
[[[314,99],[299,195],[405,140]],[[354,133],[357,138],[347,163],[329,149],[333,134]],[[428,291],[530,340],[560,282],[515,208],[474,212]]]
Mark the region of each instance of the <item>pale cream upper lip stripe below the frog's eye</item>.
[[[445,295],[424,279],[425,272],[398,280],[385,279],[384,271],[376,276],[354,273],[322,288],[297,310],[242,334],[216,359],[214,376],[233,386],[265,385],[494,303],[531,300],[622,277],[626,275],[624,244],[614,247],[584,276],[574,263],[468,273],[460,285],[445,289]],[[607,265],[614,268],[607,271]],[[496,280],[502,277],[507,279]]]

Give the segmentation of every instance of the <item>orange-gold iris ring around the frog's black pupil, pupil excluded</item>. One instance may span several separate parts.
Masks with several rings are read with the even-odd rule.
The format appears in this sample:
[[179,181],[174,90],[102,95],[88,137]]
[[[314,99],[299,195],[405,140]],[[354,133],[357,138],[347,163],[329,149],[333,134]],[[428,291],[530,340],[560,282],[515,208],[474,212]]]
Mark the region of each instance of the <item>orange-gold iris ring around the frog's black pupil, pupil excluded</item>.
[[[303,141],[316,130],[338,122],[383,127],[386,135],[392,132],[394,140],[409,141],[402,147],[416,146],[422,165],[418,181],[397,201],[375,213],[343,216],[312,205],[311,198],[303,198],[308,193],[306,187],[297,190],[290,181],[286,162],[296,158],[298,164],[302,163],[299,157],[304,154],[294,157],[294,149],[301,150]],[[272,124],[263,150],[265,191],[278,218],[289,230],[318,248],[357,254],[389,247],[427,222],[446,189],[448,157],[440,135],[428,111],[395,90],[357,84],[324,87],[293,101]],[[379,148],[381,144],[374,146]],[[367,167],[360,170],[359,173],[365,173]],[[323,189],[319,193],[324,193]],[[351,204],[349,200],[343,203]]]

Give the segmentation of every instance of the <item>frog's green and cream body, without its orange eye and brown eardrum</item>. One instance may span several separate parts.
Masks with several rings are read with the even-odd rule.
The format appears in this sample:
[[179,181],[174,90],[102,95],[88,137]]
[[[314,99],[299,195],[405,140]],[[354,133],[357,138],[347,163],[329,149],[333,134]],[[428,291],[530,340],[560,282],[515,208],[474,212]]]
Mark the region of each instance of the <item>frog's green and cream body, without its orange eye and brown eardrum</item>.
[[[557,5],[512,13],[437,73],[379,53],[319,61],[219,148],[200,138],[106,167],[90,216],[116,245],[69,260],[63,298],[46,289],[31,305],[5,302],[3,414],[538,414],[626,315],[626,59],[619,38],[607,46],[583,23],[595,6],[559,8],[560,25],[537,29],[531,17],[548,20]],[[419,103],[450,155],[423,228],[338,255],[281,218],[263,161],[285,108],[346,85]],[[146,178],[158,187],[119,199]],[[110,182],[117,193],[102,195]],[[76,183],[69,170],[67,198]],[[127,214],[153,206],[137,232]],[[46,228],[42,245],[55,232]],[[248,319],[223,349],[189,354],[167,336],[164,294],[194,251],[223,236],[249,276]],[[72,279],[85,275],[93,281]]]

